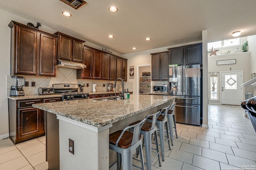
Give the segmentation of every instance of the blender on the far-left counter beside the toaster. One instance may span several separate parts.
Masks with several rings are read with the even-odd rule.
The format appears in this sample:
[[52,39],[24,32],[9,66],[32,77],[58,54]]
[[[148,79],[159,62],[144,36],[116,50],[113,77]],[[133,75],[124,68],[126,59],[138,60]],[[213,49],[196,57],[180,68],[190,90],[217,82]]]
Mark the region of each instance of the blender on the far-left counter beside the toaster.
[[[10,96],[25,96],[24,90],[22,89],[22,87],[25,85],[25,78],[22,76],[12,76],[12,78],[16,78],[16,84],[12,84]],[[22,80],[24,80],[23,83]]]

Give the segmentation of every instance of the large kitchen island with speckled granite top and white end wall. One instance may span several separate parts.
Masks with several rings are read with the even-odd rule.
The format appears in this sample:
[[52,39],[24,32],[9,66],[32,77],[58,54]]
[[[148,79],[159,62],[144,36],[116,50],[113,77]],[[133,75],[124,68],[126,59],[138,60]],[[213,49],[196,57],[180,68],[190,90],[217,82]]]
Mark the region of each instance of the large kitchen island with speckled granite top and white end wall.
[[[33,107],[47,111],[46,152],[56,154],[58,150],[53,150],[59,146],[59,163],[51,160],[58,154],[47,154],[49,170],[108,170],[115,159],[109,150],[109,134],[156,113],[174,99],[175,96],[133,94],[130,99],[117,101],[86,99],[34,104]],[[74,141],[74,154],[69,152],[69,139]]]

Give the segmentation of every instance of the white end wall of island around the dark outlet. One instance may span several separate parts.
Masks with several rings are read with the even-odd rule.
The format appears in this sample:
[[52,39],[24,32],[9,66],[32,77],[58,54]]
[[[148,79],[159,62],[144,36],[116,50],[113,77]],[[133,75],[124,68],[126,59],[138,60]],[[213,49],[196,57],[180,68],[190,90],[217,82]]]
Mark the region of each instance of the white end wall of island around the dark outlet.
[[[96,132],[62,120],[59,126],[61,170],[108,170],[109,129]],[[68,150],[69,139],[74,154]]]

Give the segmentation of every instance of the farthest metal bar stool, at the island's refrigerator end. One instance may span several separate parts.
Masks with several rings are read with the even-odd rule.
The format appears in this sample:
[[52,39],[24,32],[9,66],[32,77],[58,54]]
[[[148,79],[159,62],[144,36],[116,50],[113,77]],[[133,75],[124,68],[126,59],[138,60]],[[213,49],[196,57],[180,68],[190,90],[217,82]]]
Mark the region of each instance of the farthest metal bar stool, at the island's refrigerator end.
[[168,124],[169,124],[169,130],[170,130],[170,137],[171,137],[172,145],[173,145],[173,133],[174,133],[174,131],[176,133],[176,138],[178,138],[177,130],[176,130],[176,121],[175,121],[175,104],[176,104],[176,102],[173,103],[169,107],[168,112],[167,112],[167,118],[168,118]]

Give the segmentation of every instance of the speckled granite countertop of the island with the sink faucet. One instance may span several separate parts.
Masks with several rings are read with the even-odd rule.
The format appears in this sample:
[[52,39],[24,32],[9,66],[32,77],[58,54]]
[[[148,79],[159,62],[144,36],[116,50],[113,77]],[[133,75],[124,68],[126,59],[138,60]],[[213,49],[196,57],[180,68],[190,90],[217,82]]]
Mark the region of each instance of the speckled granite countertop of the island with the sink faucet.
[[132,94],[129,99],[125,100],[84,99],[33,104],[32,106],[94,127],[103,127],[161,104],[172,102],[175,98],[176,96]]

